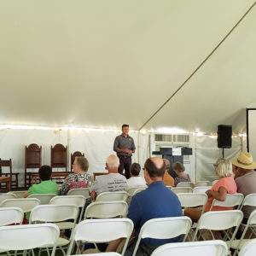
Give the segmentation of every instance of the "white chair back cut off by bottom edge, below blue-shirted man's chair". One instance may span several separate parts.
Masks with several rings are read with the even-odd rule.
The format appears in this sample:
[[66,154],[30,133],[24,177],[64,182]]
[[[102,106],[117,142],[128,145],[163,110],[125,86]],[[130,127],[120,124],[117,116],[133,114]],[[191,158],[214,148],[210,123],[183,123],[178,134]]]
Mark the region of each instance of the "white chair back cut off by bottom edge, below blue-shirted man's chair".
[[226,256],[228,247],[224,241],[187,241],[167,243],[157,247],[151,256]]

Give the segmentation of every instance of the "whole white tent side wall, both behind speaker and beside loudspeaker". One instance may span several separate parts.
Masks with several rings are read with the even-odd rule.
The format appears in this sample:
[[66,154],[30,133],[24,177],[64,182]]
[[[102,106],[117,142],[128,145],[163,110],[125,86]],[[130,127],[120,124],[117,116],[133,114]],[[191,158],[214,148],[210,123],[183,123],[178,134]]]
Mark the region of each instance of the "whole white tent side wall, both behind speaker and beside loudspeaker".
[[[50,165],[50,146],[61,143],[68,148],[68,169],[70,168],[70,154],[81,151],[89,160],[89,173],[105,172],[105,162],[113,152],[113,140],[119,131],[44,131],[44,130],[1,130],[0,131],[0,157],[13,161],[13,172],[20,172],[20,186],[24,183],[24,157],[25,146],[30,143],[42,145],[42,163]],[[137,131],[130,132],[134,138],[137,150],[132,156],[133,162],[138,162],[142,167],[149,156],[149,133]],[[194,137],[191,143],[193,155],[190,156],[189,174],[196,180],[214,180],[212,164],[222,156],[222,150],[217,147],[216,137]],[[227,159],[235,158],[241,151],[246,150],[246,138],[233,137],[232,148],[224,149]],[[38,172],[38,170],[32,170]],[[57,170],[56,170],[57,171]],[[58,170],[61,171],[61,170]],[[3,172],[5,170],[3,169]],[[143,176],[143,172],[141,172]]]

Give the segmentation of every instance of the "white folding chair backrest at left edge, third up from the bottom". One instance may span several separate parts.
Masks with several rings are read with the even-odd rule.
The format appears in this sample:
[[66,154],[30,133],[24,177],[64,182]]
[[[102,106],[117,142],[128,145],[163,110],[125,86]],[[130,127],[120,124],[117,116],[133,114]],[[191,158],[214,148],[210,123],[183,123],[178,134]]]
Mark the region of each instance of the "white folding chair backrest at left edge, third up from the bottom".
[[37,198],[17,198],[4,200],[0,207],[19,207],[23,212],[31,212],[38,205],[40,201]]

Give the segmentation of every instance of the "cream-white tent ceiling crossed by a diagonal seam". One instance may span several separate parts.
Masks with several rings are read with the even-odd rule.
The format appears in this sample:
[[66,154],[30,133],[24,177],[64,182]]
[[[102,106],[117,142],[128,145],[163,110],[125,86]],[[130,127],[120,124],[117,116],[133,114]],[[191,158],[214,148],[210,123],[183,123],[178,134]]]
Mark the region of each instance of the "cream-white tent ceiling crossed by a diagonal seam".
[[[0,124],[139,129],[253,0],[0,2]],[[143,129],[245,131],[256,6]]]

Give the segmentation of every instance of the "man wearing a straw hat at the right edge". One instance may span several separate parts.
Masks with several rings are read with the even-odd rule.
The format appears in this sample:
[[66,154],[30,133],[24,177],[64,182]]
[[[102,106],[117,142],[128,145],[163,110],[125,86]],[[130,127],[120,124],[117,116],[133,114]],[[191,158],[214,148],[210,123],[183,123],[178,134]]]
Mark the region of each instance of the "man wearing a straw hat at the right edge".
[[[241,152],[236,159],[232,160],[232,169],[235,173],[235,181],[237,185],[237,193],[247,196],[256,193],[256,162],[253,161],[252,154],[248,152]],[[251,212],[256,207],[242,207],[241,211],[244,214],[243,223],[247,223]]]

